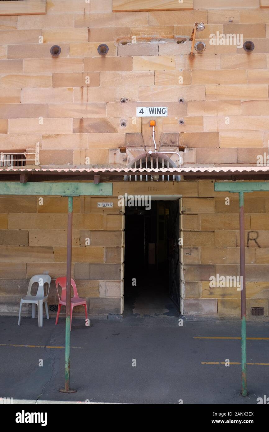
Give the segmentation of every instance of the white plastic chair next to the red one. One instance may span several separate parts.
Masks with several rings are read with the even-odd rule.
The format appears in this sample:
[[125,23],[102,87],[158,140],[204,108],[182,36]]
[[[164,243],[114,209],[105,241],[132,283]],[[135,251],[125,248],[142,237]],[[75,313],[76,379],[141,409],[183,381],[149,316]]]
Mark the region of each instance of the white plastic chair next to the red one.
[[[38,290],[36,295],[31,295],[32,285],[37,282]],[[47,295],[44,295],[44,284],[48,284]],[[32,276],[28,285],[28,290],[26,297],[21,299],[21,304],[19,306],[19,321],[18,325],[21,323],[21,312],[23,303],[32,303],[32,318],[35,318],[36,305],[38,305],[38,327],[43,326],[43,303],[45,303],[46,315],[48,316],[48,308],[47,308],[47,297],[51,286],[51,276],[48,274],[36,274]]]

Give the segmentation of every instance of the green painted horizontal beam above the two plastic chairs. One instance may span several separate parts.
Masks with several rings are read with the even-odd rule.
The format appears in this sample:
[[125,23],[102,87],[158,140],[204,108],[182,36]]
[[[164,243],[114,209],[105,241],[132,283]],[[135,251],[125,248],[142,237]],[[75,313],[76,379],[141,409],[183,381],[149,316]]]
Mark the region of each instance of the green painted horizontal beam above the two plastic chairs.
[[112,195],[112,183],[0,182],[0,195]]

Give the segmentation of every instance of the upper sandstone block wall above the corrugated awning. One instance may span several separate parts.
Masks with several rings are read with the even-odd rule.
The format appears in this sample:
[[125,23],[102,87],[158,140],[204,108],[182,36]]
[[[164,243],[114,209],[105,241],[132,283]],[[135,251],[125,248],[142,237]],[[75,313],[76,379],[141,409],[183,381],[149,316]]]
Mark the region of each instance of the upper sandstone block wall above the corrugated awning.
[[[165,105],[157,143],[162,133],[179,134],[185,164],[256,164],[269,139],[269,10],[262,6],[194,0],[193,10],[117,13],[112,0],[47,0],[46,14],[1,16],[0,149],[31,152],[39,142],[43,166],[124,166],[119,148],[137,146],[126,134],[142,133],[153,145],[149,118],[136,118],[136,107]],[[190,57],[196,21],[206,25],[196,36],[206,50]],[[210,44],[217,32],[242,34],[254,51]],[[54,44],[59,58],[51,57]]]

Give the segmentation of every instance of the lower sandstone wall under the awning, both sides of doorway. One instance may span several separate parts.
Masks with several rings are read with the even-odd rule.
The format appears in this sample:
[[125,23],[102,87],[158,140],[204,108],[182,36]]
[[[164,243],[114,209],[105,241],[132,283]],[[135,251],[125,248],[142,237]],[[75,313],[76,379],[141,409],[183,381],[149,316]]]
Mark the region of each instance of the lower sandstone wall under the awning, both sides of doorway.
[[[209,288],[210,276],[217,273],[240,276],[238,197],[214,192],[210,180],[115,182],[112,198],[74,199],[72,277],[79,295],[87,298],[90,314],[123,311],[124,247],[132,245],[124,242],[117,197],[126,192],[182,196],[181,312],[239,317],[236,287]],[[66,272],[67,199],[43,199],[40,205],[36,197],[0,198],[1,313],[18,312],[29,278],[38,273],[52,277],[49,303],[57,304],[54,280]],[[112,201],[114,207],[98,208],[98,201]],[[254,319],[268,319],[269,193],[246,194],[245,212],[247,314],[253,306],[263,307],[265,316]]]

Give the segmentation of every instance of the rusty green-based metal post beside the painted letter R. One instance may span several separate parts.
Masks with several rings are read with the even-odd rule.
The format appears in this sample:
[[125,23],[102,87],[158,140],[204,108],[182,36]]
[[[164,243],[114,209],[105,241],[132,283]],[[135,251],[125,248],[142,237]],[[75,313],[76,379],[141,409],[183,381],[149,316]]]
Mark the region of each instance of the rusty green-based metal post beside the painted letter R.
[[239,192],[240,227],[240,276],[241,279],[241,358],[242,396],[247,396],[247,332],[246,332],[246,263],[245,263],[245,220],[244,192]]

